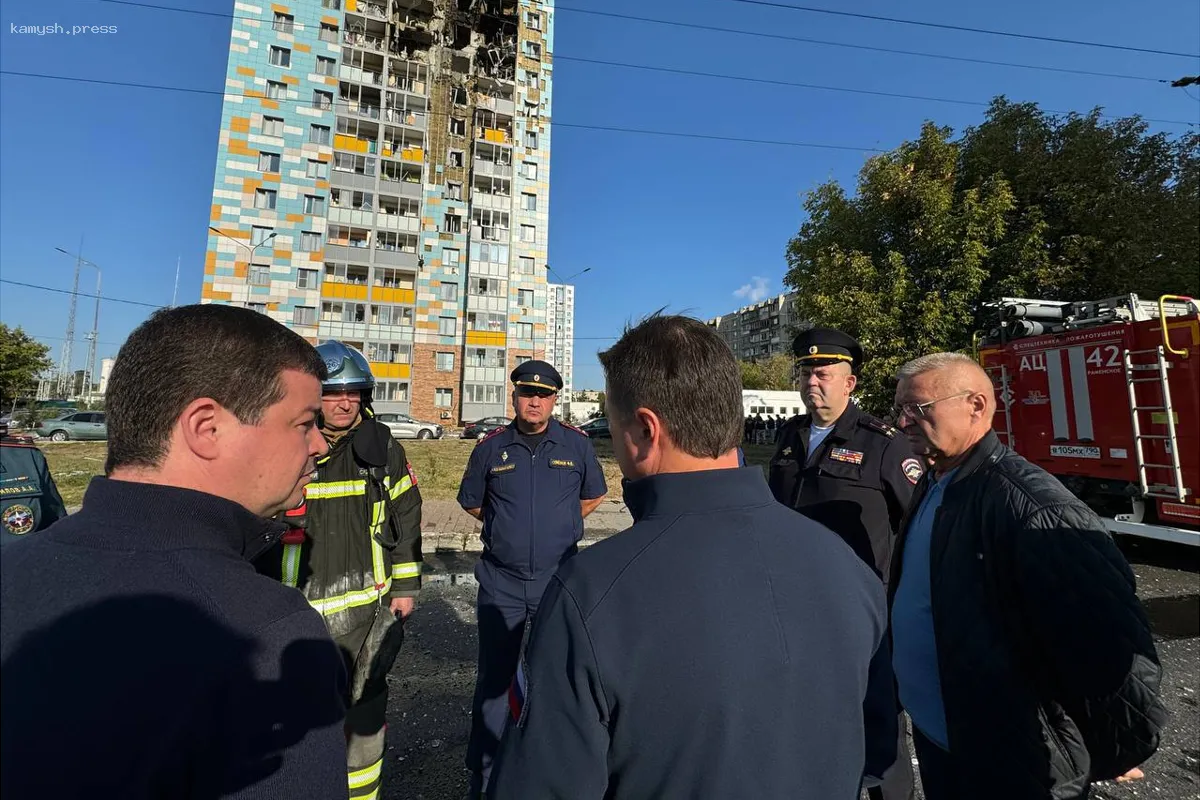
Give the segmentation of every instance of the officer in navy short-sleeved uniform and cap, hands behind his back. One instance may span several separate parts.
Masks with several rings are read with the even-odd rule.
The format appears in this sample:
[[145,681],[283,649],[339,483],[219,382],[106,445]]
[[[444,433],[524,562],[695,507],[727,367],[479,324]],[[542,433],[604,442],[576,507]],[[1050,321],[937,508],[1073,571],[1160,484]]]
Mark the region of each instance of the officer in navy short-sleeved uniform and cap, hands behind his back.
[[486,789],[508,715],[526,622],[546,583],[575,554],[583,518],[608,491],[587,434],[551,416],[563,387],[545,361],[510,375],[516,419],[479,440],[467,463],[458,504],[484,522],[479,579],[479,672],[467,766],[472,796]]

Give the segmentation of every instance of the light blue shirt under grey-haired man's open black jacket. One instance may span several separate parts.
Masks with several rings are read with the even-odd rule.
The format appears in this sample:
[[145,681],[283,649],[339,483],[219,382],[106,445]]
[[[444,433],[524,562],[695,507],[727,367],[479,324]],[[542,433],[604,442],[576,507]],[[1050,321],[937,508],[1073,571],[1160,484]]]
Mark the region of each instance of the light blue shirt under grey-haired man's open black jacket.
[[949,748],[949,742],[934,636],[929,558],[934,518],[955,471],[952,469],[932,482],[908,524],[900,585],[892,603],[892,666],[900,688],[900,704],[908,711],[912,723],[943,750]]

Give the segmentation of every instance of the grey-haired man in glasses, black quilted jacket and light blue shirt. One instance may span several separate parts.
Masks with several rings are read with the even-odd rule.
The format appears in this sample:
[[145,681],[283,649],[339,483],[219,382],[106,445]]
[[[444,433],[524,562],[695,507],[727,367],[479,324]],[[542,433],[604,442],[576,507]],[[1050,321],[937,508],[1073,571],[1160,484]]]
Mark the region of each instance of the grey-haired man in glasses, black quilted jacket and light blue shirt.
[[1150,625],[1100,519],[991,432],[970,357],[900,369],[896,421],[934,469],[889,597],[900,702],[926,800],[1074,800],[1158,746]]

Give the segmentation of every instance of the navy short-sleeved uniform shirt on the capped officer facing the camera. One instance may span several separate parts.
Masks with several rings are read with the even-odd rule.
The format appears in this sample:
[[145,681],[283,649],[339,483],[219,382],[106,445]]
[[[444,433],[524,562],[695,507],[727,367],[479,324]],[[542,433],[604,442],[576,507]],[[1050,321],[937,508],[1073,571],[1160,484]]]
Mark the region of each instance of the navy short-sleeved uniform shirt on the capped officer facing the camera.
[[470,453],[458,505],[484,510],[484,558],[534,578],[575,552],[583,536],[580,500],[607,488],[587,434],[552,419],[532,451],[514,421]]

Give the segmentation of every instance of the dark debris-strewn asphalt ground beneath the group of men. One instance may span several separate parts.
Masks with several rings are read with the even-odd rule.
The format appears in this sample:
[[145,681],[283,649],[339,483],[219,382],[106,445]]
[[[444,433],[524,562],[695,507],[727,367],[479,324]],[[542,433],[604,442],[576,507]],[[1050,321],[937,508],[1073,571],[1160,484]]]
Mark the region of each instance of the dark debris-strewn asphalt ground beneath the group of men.
[[[1171,717],[1162,747],[1144,765],[1146,778],[1098,784],[1093,798],[1200,800],[1200,548],[1132,542],[1124,549],[1154,626]],[[474,554],[436,554],[428,566],[432,573],[389,676],[384,800],[467,795],[463,758],[476,660]]]

